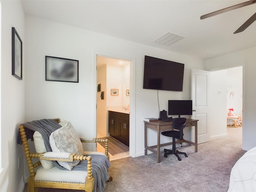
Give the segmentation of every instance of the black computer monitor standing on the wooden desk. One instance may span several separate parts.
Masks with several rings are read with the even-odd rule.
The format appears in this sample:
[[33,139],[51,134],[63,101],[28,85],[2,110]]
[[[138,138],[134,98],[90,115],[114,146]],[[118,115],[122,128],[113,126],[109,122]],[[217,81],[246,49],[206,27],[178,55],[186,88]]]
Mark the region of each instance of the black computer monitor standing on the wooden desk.
[[168,115],[192,115],[192,100],[168,100]]

